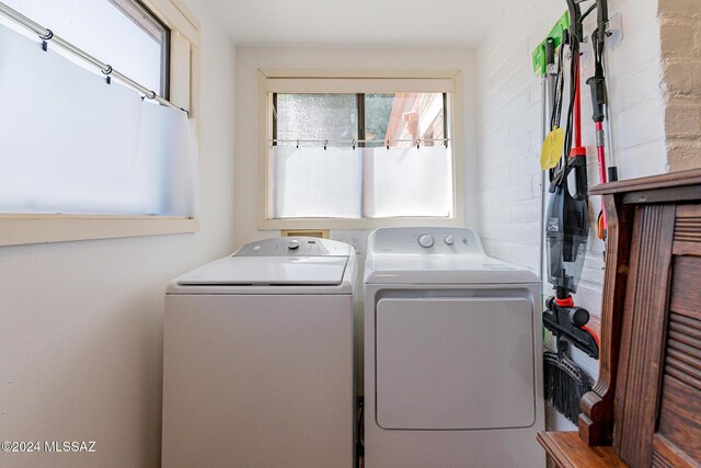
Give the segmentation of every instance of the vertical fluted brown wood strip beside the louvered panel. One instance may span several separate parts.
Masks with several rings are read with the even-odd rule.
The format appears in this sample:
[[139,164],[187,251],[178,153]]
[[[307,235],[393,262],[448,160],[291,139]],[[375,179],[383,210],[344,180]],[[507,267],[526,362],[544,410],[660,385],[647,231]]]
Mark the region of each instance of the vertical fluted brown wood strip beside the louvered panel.
[[613,446],[634,467],[652,464],[663,366],[676,206],[636,208],[631,246],[620,365],[616,390],[618,427]]

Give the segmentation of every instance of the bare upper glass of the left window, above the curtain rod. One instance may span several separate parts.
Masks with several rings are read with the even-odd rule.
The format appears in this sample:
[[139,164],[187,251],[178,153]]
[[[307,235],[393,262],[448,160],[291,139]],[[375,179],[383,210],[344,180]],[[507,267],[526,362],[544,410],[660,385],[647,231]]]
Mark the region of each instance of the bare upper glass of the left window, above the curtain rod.
[[[136,0],[2,1],[168,99],[169,30]],[[0,15],[0,21],[15,31],[36,37],[4,16]],[[55,49],[62,53],[60,47]],[[87,66],[71,54],[65,55]]]

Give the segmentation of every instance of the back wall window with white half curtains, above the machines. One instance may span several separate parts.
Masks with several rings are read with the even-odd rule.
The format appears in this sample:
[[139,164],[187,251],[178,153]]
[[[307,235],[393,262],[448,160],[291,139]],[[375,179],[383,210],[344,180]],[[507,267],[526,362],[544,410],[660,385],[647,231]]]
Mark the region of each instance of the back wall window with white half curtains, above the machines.
[[458,222],[457,73],[261,73],[268,128],[261,145],[262,228]]

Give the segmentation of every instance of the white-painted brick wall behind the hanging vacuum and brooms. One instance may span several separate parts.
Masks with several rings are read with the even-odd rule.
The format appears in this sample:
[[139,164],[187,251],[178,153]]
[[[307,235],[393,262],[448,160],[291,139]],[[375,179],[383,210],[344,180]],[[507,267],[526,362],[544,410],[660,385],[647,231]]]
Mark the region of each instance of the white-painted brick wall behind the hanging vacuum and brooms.
[[[623,42],[608,54],[613,145],[621,179],[666,172],[665,101],[660,90],[657,1],[611,2],[622,13]],[[498,31],[478,50],[480,214],[485,248],[495,256],[538,270],[540,239],[541,83],[531,52],[564,13],[562,0],[513,2]],[[586,32],[590,33],[591,27]],[[590,48],[590,45],[584,47]],[[593,75],[589,59],[585,79]],[[598,184],[591,105],[583,94],[589,183]],[[594,230],[599,201],[591,199],[593,232],[577,304],[600,313],[602,242]],[[550,293],[550,292],[549,292]],[[591,374],[598,363],[576,356]],[[559,427],[563,420],[552,421]],[[572,429],[572,427],[571,427]]]

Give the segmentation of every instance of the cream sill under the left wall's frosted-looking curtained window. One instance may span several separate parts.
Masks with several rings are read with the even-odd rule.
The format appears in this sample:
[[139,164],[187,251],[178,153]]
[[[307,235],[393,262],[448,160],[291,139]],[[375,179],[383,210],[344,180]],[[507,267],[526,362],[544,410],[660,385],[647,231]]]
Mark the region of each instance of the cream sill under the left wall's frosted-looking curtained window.
[[169,216],[0,215],[0,246],[196,232],[197,219]]

